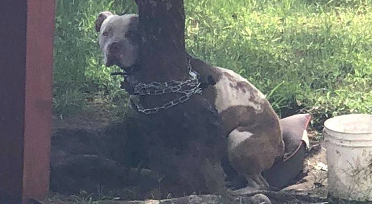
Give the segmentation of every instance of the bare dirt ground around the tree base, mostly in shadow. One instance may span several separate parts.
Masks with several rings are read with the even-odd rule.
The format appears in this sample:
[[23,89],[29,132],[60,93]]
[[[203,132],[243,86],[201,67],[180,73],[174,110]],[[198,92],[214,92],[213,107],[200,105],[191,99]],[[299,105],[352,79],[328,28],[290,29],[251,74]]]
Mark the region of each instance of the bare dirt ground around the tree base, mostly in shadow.
[[[119,118],[119,119],[118,119]],[[126,121],[99,111],[61,120],[54,118],[51,149],[51,196],[43,203],[160,203],[161,180],[141,165],[137,122],[128,112]],[[309,134],[304,172],[297,182],[279,192],[265,192],[272,203],[356,203],[327,199],[325,149]],[[142,170],[138,170],[142,169]],[[171,197],[171,195],[170,195]],[[120,199],[120,200],[115,200]],[[115,200],[115,201],[114,201]],[[147,201],[124,201],[147,200]],[[95,202],[96,203],[96,202]],[[191,195],[161,203],[221,203],[215,195]],[[237,203],[249,203],[248,197]]]

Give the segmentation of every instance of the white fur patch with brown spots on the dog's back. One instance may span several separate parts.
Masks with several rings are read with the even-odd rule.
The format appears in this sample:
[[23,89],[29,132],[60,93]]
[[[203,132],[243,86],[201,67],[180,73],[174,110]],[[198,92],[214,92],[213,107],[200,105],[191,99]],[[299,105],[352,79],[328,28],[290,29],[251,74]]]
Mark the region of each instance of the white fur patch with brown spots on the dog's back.
[[[221,72],[227,72],[231,76],[233,76],[237,82],[244,82],[247,83],[252,89],[257,90],[257,94],[246,91],[243,92],[241,89],[236,89],[235,87],[230,86],[230,81],[227,77],[222,75],[221,79],[217,82],[215,85],[217,89],[217,97],[215,101],[216,109],[219,113],[222,111],[227,110],[228,108],[232,106],[248,106],[252,107],[256,113],[262,112],[262,103],[264,103],[265,95],[262,94],[256,87],[254,87],[251,83],[249,83],[245,78],[243,78],[241,75],[235,73],[232,70],[216,67]],[[235,85],[235,84],[234,84]],[[256,101],[251,101],[250,97],[251,95],[255,98]]]

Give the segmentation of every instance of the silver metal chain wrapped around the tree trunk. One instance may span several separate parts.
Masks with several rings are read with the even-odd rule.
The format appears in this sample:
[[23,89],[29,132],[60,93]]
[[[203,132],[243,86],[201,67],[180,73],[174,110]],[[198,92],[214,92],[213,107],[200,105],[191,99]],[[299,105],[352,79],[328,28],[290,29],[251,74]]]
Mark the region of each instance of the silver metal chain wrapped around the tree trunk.
[[[160,95],[166,93],[181,93],[182,96],[176,98],[175,100],[171,100],[168,103],[160,106],[160,107],[153,107],[153,108],[144,108],[141,104],[136,104],[136,107],[139,112],[144,114],[152,114],[157,113],[159,110],[166,110],[171,107],[174,107],[178,104],[184,103],[194,94],[201,94],[202,90],[199,87],[200,82],[197,77],[197,73],[192,71],[191,66],[191,57],[188,56],[188,68],[189,74],[192,79],[186,81],[171,81],[165,83],[158,83],[158,82],[151,82],[149,84],[145,83],[138,83],[134,87],[134,94],[138,95]],[[188,89],[189,88],[189,89]]]

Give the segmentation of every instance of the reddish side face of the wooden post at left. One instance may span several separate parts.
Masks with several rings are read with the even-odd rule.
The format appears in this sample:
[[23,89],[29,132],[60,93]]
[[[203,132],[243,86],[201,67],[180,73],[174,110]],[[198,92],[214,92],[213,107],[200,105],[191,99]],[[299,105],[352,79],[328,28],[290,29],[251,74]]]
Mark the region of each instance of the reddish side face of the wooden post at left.
[[55,1],[28,1],[23,196],[49,188]]

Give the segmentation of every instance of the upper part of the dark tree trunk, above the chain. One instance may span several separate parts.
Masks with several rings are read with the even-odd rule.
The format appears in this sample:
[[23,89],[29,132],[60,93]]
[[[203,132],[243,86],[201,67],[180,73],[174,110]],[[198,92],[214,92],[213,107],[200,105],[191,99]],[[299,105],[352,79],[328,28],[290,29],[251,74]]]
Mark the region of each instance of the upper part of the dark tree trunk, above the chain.
[[184,45],[183,0],[136,0],[139,11],[138,81],[166,82],[188,78]]

